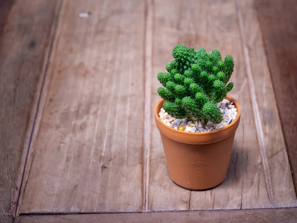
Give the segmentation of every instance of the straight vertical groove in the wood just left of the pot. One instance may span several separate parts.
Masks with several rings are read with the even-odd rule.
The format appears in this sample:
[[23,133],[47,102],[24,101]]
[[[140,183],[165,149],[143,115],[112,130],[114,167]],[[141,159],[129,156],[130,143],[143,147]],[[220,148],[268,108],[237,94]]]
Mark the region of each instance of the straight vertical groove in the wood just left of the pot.
[[153,47],[153,0],[146,0],[144,35],[144,81],[145,81],[145,119],[144,119],[144,173],[143,173],[143,212],[148,212],[149,165],[151,147],[151,76]]

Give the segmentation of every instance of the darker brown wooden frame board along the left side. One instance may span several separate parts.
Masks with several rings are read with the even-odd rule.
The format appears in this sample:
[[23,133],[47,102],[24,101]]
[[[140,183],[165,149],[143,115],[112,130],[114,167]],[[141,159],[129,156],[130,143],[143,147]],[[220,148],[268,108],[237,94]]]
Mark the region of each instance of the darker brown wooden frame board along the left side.
[[57,7],[17,0],[0,40],[0,222],[15,216]]

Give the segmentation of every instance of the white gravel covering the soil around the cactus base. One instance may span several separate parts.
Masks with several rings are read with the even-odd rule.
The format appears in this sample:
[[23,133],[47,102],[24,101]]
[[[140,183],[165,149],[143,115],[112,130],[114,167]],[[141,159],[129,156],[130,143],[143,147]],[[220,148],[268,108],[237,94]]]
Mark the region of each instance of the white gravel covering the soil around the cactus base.
[[229,125],[237,116],[237,109],[233,105],[233,102],[230,102],[227,99],[218,103],[217,107],[223,114],[223,121],[219,124],[213,124],[211,121],[205,123],[203,119],[198,120],[195,117],[178,119],[169,115],[163,108],[159,112],[159,117],[163,123],[176,130],[182,131],[183,129],[180,129],[180,127],[183,126],[185,127],[185,132],[210,132]]

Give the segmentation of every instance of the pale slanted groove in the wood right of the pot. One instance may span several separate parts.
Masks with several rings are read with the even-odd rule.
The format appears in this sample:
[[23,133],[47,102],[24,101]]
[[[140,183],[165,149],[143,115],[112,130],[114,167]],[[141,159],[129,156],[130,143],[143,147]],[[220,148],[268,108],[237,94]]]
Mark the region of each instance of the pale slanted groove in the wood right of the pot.
[[257,132],[257,138],[258,138],[258,146],[259,146],[260,152],[261,152],[261,163],[263,166],[268,198],[272,204],[275,204],[276,199],[274,197],[274,194],[273,194],[273,191],[271,188],[272,183],[271,183],[271,177],[270,177],[270,173],[269,173],[268,160],[266,157],[265,137],[264,137],[263,127],[262,127],[262,123],[261,123],[261,116],[260,116],[260,112],[259,112],[257,97],[256,97],[256,93],[255,93],[254,81],[253,81],[253,77],[252,77],[249,51],[247,48],[247,42],[246,42],[246,38],[245,38],[245,34],[244,34],[243,15],[241,12],[241,8],[239,6],[239,0],[235,0],[235,3],[236,3],[236,9],[237,9],[240,36],[241,36],[241,40],[242,40],[242,48],[243,48],[246,70],[247,70],[247,80],[248,80],[249,92],[250,92],[250,96],[251,96],[251,100],[252,100],[251,104],[252,104],[252,110],[254,113],[256,132]]

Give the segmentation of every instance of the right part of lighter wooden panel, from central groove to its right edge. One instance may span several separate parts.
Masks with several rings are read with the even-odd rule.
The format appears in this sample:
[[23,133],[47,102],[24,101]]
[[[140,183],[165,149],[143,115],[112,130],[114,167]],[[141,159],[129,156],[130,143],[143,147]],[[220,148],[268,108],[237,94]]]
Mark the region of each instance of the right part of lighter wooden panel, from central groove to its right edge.
[[[235,58],[235,71],[231,79],[235,88],[231,95],[238,99],[243,113],[227,177],[221,185],[207,191],[190,193],[179,188],[168,176],[159,133],[154,129],[151,136],[148,210],[294,207],[296,195],[282,133],[279,133],[280,121],[267,65],[265,67],[266,58],[261,41],[258,40],[261,36],[254,9],[251,2],[246,1],[249,8],[243,15],[237,11],[242,5],[237,6],[232,0],[210,2],[211,4],[194,0],[155,2],[154,30],[158,35],[153,41],[152,71],[165,71],[164,65],[170,61],[171,49],[177,43],[196,49],[204,47],[208,52],[218,49],[223,55],[230,54]],[[247,18],[251,27],[245,26],[246,24],[239,26],[239,15],[241,20],[243,16]],[[250,28],[253,29],[252,33],[248,33]],[[249,57],[245,54],[247,43],[242,39],[243,34],[247,35],[249,47],[259,47]],[[257,39],[253,41],[255,37]],[[248,66],[247,59],[252,68]],[[258,68],[261,62],[264,63],[264,68],[261,67],[260,70]],[[263,69],[266,73],[261,77]],[[266,81],[264,87],[254,84],[255,81],[261,83],[263,80]],[[152,77],[152,83],[153,106],[159,99],[155,93],[159,87],[155,76]],[[252,103],[251,99],[254,98],[258,105]],[[268,106],[270,109],[267,109]],[[269,123],[271,117],[267,113],[275,117],[273,125]],[[255,124],[258,120],[260,122]],[[152,116],[151,123],[154,125]],[[270,138],[273,140],[268,142]],[[278,166],[279,163],[282,165]]]

